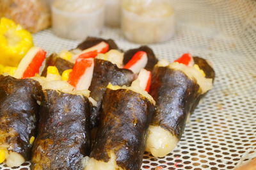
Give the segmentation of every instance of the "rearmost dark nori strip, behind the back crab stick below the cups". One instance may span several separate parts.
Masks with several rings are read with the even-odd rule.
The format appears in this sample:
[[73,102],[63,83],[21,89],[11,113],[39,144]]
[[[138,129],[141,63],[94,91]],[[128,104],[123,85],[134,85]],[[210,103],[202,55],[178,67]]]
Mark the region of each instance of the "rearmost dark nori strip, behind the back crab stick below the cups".
[[118,50],[118,46],[112,39],[103,39],[103,38],[97,38],[93,36],[88,36],[84,42],[79,43],[77,45],[77,49],[85,50],[90,47],[93,47],[94,45],[97,45],[100,42],[106,42],[109,45],[109,50]]

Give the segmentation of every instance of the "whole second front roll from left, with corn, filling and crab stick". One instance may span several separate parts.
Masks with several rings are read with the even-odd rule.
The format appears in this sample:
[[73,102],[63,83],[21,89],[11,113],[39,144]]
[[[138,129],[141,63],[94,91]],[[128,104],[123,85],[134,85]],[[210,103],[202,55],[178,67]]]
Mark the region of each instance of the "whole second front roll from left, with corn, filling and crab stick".
[[[87,65],[84,72],[77,70],[84,62],[76,63],[70,81],[83,79],[92,74]],[[84,64],[86,66],[86,63]],[[89,70],[89,72],[86,72]],[[84,157],[90,153],[90,110],[89,91],[80,89],[84,81],[71,86],[61,81],[56,67],[49,67],[47,77],[34,77],[42,84],[44,96],[40,107],[38,136],[33,146],[32,169],[83,169]],[[88,79],[86,79],[88,81]],[[76,81],[77,82],[77,81]],[[79,88],[79,89],[78,89]]]

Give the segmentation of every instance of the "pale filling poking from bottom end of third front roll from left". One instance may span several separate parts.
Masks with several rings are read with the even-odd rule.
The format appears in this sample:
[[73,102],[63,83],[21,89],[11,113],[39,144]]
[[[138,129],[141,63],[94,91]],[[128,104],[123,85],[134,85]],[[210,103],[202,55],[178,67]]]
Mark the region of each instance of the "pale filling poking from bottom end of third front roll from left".
[[114,153],[110,153],[110,159],[108,162],[104,162],[102,160],[96,160],[95,158],[90,158],[88,162],[86,162],[84,170],[122,170],[121,167],[116,164],[116,156]]

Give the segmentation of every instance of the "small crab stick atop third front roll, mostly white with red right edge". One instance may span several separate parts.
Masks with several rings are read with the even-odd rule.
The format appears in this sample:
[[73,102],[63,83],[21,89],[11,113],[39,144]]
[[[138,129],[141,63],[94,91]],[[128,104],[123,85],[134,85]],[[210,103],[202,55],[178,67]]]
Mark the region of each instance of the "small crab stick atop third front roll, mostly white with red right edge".
[[141,69],[138,75],[138,80],[140,81],[140,87],[148,92],[151,83],[151,72]]

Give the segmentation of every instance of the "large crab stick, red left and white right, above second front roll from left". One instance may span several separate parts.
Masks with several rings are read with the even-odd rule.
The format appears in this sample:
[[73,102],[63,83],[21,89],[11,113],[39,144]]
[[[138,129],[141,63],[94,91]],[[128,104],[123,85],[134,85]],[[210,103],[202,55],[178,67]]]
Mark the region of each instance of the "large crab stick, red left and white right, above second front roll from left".
[[77,90],[88,89],[92,82],[93,58],[78,58],[68,77],[68,83]]

